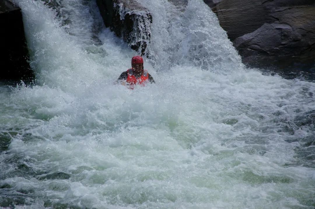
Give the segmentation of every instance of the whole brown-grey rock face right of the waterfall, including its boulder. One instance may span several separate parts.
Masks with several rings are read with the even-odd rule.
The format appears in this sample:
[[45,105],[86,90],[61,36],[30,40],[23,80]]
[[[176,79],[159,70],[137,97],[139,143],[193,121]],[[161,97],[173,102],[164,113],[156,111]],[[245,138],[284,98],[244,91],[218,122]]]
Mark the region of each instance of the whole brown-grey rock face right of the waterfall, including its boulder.
[[204,2],[217,14],[245,63],[315,64],[315,0]]

